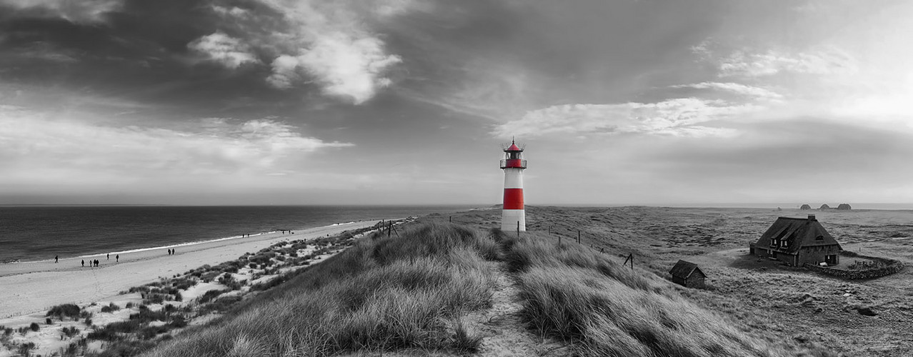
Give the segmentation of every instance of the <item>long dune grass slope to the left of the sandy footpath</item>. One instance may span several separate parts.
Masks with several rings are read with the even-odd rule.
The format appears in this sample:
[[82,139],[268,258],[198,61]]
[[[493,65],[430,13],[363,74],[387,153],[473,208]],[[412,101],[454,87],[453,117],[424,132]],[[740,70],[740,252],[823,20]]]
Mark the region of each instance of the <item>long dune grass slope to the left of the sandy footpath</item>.
[[150,356],[285,356],[398,349],[473,352],[460,316],[490,304],[485,259],[498,246],[465,227],[426,224],[364,237]]

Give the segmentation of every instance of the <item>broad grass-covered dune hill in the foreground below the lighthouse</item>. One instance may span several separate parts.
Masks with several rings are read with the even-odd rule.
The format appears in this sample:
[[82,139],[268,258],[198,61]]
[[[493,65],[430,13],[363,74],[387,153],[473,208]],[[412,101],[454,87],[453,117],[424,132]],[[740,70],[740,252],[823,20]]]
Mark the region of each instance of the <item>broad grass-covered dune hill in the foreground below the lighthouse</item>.
[[467,319],[498,310],[499,281],[548,355],[823,355],[735,324],[683,298],[665,279],[624,268],[545,232],[517,237],[434,217],[365,236],[150,356],[482,354],[505,339]]

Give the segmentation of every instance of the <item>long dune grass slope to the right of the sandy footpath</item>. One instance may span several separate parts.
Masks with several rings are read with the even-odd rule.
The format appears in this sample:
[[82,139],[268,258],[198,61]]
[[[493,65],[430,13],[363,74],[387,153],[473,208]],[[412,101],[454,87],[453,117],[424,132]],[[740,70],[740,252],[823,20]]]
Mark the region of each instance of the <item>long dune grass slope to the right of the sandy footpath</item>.
[[496,230],[517,272],[524,319],[542,335],[572,342],[580,355],[791,355],[704,310],[640,269],[624,268],[577,244]]

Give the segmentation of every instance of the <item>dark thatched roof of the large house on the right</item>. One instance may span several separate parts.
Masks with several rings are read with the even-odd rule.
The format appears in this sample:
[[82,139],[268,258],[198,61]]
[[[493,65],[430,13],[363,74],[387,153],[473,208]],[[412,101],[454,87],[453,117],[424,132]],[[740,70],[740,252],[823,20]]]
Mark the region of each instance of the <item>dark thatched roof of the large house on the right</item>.
[[[819,236],[821,239],[818,239]],[[778,247],[774,250],[789,254],[796,254],[801,247],[835,245],[841,250],[843,249],[834,236],[827,233],[824,226],[814,219],[814,216],[809,218],[778,217],[773,225],[767,228],[767,232],[758,238],[755,246],[771,247],[771,239],[786,240],[786,247]]]

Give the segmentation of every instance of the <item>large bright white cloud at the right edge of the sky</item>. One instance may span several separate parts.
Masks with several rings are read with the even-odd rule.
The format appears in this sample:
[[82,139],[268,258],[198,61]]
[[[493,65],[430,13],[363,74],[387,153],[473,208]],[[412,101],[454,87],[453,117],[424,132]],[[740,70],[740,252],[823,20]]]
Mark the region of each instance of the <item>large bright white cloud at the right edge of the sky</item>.
[[[781,118],[811,116],[857,127],[906,130],[903,127],[913,113],[908,105],[913,72],[899,58],[909,58],[911,53],[908,47],[896,44],[906,41],[899,34],[909,32],[897,28],[908,24],[891,24],[897,21],[894,18],[879,21],[887,25],[849,26],[827,43],[804,48],[734,47],[732,38],[708,38],[691,47],[691,52],[713,65],[717,77],[738,83],[708,81],[672,87],[727,90],[776,103],[769,114]],[[782,89],[785,95],[768,92],[761,85]]]

